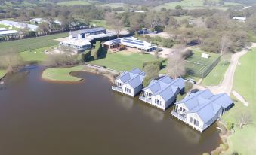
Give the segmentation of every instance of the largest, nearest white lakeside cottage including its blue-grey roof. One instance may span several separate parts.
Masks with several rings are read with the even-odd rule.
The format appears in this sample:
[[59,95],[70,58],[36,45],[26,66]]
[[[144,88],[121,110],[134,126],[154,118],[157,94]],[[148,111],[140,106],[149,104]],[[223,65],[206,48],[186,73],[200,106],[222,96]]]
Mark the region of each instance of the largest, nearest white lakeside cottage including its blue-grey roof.
[[214,95],[210,90],[200,90],[175,103],[171,114],[202,132],[232,106],[226,93]]

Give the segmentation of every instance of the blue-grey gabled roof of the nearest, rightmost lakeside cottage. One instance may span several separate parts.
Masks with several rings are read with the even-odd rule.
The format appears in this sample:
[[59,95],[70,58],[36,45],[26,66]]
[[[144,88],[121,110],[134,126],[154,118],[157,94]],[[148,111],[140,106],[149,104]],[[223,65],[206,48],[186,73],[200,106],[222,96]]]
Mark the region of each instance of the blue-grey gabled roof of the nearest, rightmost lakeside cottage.
[[226,93],[214,95],[210,90],[200,90],[192,93],[187,98],[182,99],[176,104],[184,103],[188,108],[188,113],[196,113],[207,123],[216,116],[221,108],[227,108],[233,101]]

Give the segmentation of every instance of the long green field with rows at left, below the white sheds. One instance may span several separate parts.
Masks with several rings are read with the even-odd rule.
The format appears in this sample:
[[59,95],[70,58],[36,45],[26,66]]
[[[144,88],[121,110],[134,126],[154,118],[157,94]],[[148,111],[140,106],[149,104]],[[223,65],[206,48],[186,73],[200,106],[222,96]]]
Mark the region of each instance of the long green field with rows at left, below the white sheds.
[[67,37],[68,33],[60,33],[57,35],[46,35],[37,38],[28,38],[23,40],[17,41],[8,41],[0,43],[0,53],[4,52],[5,50],[10,50],[10,48],[17,52],[23,52],[26,50],[31,50],[42,48],[42,47],[49,47],[58,44],[58,41],[54,41],[56,38],[64,38]]

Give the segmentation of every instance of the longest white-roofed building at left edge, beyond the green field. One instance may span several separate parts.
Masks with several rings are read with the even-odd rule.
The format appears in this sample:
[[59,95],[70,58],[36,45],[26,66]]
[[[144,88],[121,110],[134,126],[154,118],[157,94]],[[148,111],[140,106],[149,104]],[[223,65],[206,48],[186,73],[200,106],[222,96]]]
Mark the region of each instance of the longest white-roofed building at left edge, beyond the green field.
[[2,21],[0,21],[0,24],[5,25],[5,26],[10,26],[10,27],[17,27],[20,29],[29,29],[30,31],[35,31],[39,27],[39,26],[35,26],[32,24],[19,23],[19,22],[14,22],[11,20],[2,20]]

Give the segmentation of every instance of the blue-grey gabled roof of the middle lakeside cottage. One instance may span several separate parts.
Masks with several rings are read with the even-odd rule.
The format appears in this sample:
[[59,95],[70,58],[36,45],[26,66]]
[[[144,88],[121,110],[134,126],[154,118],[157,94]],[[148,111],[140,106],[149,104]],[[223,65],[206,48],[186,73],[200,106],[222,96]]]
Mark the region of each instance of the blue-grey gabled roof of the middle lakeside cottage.
[[177,91],[184,88],[184,79],[177,78],[175,80],[168,76],[163,76],[159,80],[152,80],[149,86],[145,87],[143,90],[151,90],[153,95],[162,96],[165,101],[171,99]]

